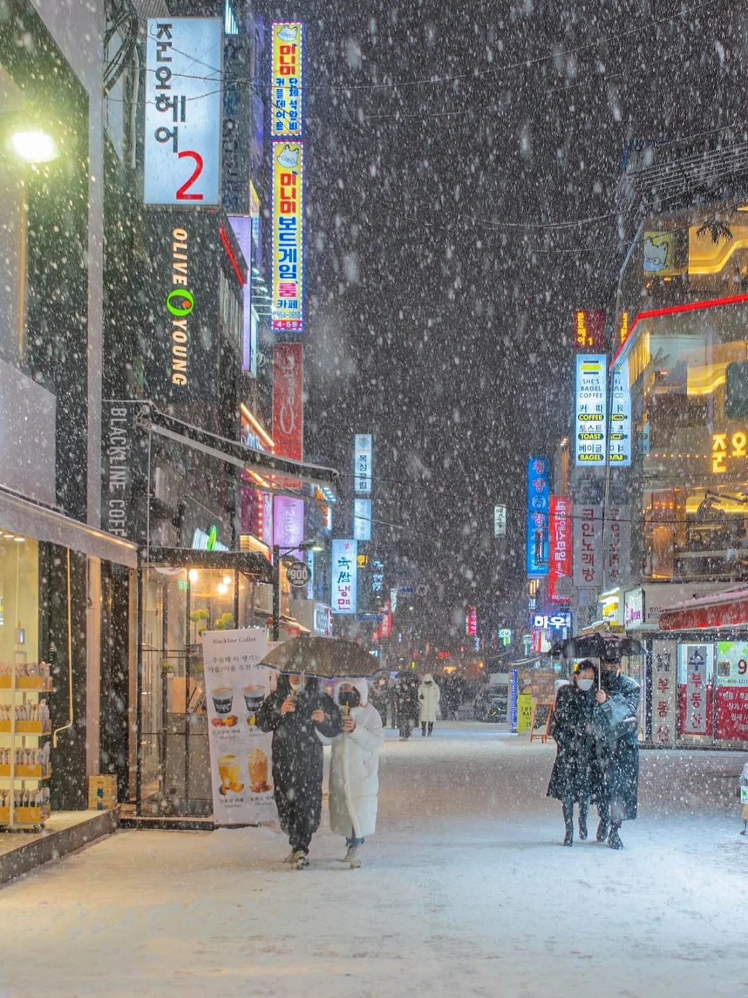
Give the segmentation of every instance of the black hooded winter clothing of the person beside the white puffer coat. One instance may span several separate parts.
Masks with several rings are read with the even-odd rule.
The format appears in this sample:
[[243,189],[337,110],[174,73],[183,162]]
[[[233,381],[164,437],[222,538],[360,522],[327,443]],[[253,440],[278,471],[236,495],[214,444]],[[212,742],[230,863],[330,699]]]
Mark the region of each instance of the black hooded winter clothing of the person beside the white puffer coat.
[[[260,705],[256,725],[272,732],[272,775],[280,826],[288,831],[289,803],[303,807],[310,831],[316,831],[322,815],[322,743],[317,732],[334,739],[342,732],[340,711],[331,697],[320,693],[314,680],[296,691],[296,710],[281,714],[283,701],[291,694],[286,676],[278,679],[275,693]],[[321,710],[325,720],[316,724],[312,714]],[[329,720],[328,720],[329,719]]]

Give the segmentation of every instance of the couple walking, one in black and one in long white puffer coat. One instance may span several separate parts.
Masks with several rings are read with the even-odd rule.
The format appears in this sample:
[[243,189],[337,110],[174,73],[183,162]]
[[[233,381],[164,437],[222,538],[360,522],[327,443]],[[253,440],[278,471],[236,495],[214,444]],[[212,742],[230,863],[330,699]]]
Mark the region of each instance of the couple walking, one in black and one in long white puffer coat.
[[257,727],[272,732],[272,774],[286,856],[294,869],[309,865],[309,844],[322,816],[322,745],[332,745],[330,828],[345,836],[344,862],[361,865],[359,848],[377,819],[382,719],[368,703],[366,680],[337,684],[334,699],[316,680],[280,676],[257,712]]

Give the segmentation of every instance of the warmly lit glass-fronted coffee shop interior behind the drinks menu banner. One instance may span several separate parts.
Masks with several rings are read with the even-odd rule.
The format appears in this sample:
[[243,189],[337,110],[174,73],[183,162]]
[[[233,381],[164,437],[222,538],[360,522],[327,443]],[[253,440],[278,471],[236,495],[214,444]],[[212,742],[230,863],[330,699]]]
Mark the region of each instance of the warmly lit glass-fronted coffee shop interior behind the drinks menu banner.
[[259,552],[152,549],[143,567],[138,812],[212,812],[201,637],[257,626]]

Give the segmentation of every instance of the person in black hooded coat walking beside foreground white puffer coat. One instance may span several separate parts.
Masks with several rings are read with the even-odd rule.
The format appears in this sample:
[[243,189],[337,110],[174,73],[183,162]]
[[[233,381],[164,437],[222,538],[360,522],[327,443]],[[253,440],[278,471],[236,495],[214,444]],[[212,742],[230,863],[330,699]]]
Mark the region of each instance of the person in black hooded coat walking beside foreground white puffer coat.
[[272,775],[280,827],[291,847],[286,861],[309,865],[309,843],[322,815],[322,743],[343,730],[340,711],[316,681],[280,676],[256,715],[260,731],[272,732]]

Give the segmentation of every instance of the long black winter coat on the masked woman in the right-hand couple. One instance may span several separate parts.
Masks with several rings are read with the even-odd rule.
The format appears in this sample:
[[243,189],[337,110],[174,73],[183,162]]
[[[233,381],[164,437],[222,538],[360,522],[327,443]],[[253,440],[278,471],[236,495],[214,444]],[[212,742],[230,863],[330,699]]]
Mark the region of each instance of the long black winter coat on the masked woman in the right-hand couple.
[[590,794],[592,707],[594,691],[575,684],[563,686],[556,697],[551,734],[556,739],[556,762],[548,796],[557,800],[587,800]]

